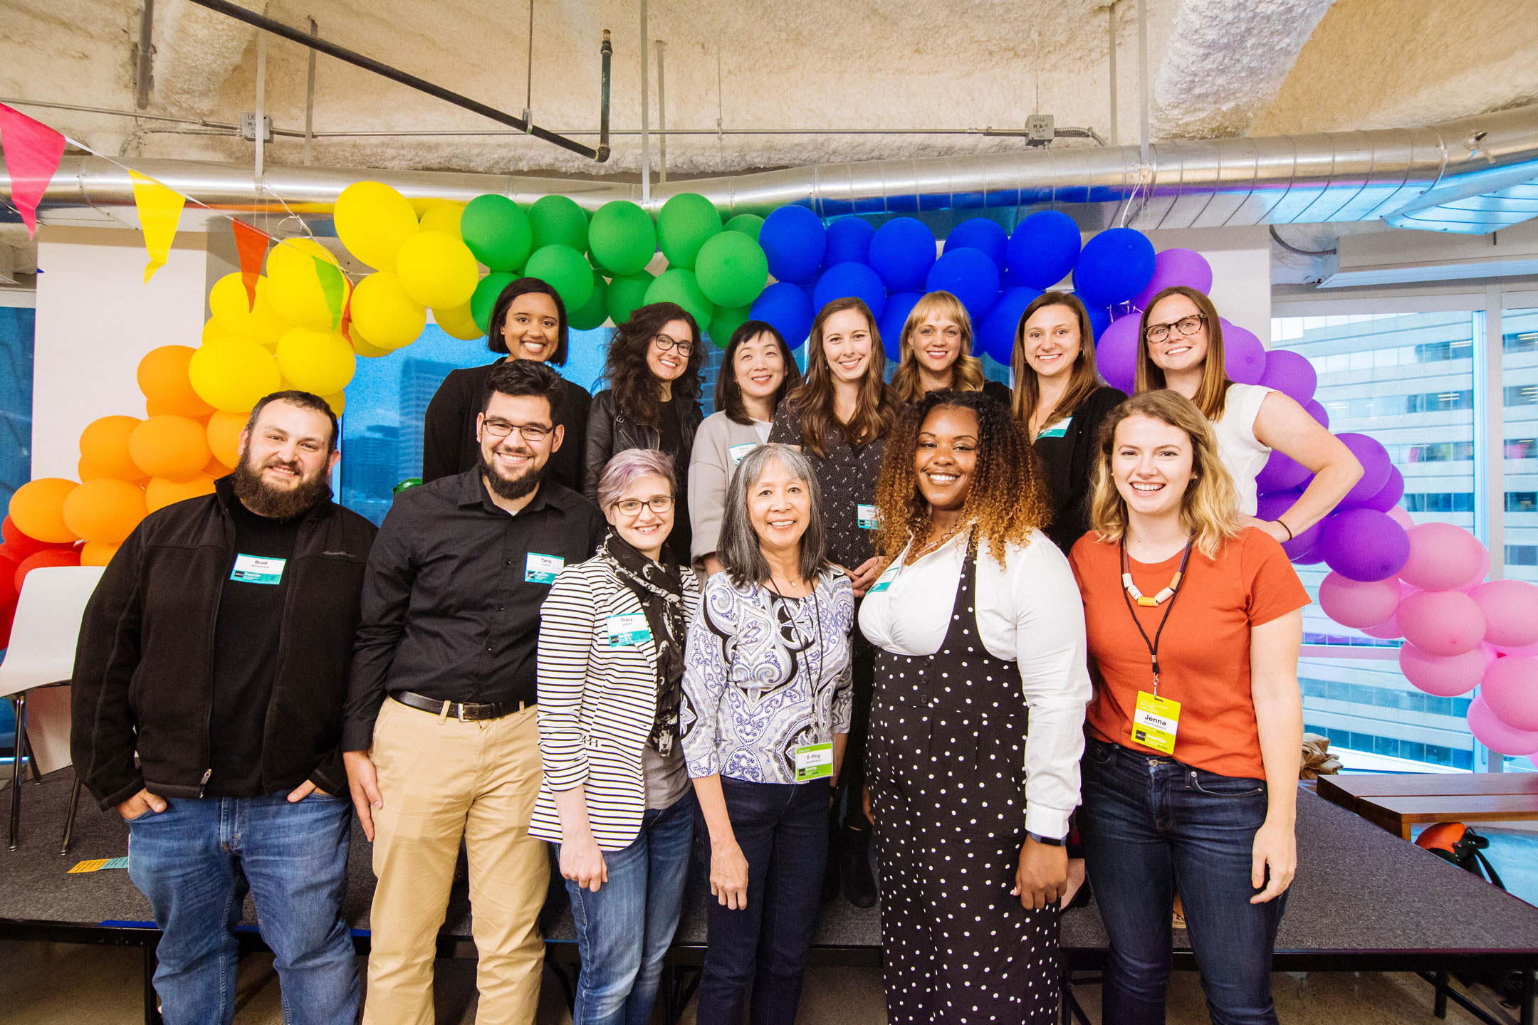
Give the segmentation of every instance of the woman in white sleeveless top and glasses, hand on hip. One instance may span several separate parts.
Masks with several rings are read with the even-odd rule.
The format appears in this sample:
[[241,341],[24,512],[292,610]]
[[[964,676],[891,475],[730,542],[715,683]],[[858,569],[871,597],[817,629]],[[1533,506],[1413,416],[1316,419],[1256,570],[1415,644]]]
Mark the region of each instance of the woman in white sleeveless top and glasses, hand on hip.
[[[1233,476],[1240,512],[1278,541],[1290,541],[1335,509],[1361,478],[1361,463],[1303,406],[1223,372],[1223,324],[1206,294],[1172,286],[1143,310],[1137,390],[1173,389],[1212,421],[1218,456]],[[1277,449],[1313,472],[1313,479],[1277,519],[1257,519],[1255,476]]]

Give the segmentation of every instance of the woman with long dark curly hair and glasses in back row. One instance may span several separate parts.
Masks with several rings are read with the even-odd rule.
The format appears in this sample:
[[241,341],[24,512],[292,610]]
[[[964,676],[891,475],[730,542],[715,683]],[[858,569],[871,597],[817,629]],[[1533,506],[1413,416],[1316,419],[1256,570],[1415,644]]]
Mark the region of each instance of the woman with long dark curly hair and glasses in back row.
[[[689,453],[704,420],[700,410],[700,326],[677,303],[637,307],[609,343],[603,376],[609,387],[592,396],[583,493],[598,501],[603,467],[626,449],[660,449],[672,456],[675,499],[689,507]],[[667,550],[689,561],[689,516],[675,516]]]

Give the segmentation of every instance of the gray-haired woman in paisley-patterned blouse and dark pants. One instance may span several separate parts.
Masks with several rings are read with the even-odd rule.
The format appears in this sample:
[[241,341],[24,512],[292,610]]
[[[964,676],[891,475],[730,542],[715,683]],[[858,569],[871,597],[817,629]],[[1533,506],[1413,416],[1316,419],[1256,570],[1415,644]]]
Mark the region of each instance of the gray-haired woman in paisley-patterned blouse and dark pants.
[[683,748],[711,844],[700,1025],[791,1025],[849,735],[854,587],[826,556],[811,461],[760,446],[732,473],[684,652]]

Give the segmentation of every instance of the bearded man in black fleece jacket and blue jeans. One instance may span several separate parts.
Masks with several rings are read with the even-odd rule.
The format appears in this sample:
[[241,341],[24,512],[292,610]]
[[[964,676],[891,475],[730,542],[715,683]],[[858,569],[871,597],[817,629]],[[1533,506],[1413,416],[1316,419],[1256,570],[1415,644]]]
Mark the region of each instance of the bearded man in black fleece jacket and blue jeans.
[[168,1025],[234,1014],[249,890],[292,1022],[351,1025],[341,710],[374,526],[331,501],[337,416],[275,392],[215,493],[145,518],[80,627],[75,771],[129,825]]

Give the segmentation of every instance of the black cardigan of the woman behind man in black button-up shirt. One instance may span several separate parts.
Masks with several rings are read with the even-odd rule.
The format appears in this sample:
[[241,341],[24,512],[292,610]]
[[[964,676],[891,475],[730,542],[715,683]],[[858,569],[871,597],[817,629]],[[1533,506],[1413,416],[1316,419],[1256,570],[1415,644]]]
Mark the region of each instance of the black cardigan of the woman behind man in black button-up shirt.
[[[495,363],[466,370],[449,370],[438,392],[428,403],[421,424],[421,481],[463,473],[480,464],[475,418],[486,393],[486,378]],[[551,479],[581,492],[581,463],[588,450],[588,407],[592,396],[580,384],[563,380],[564,401],[558,410],[566,426],[561,447],[551,453],[546,473]]]

